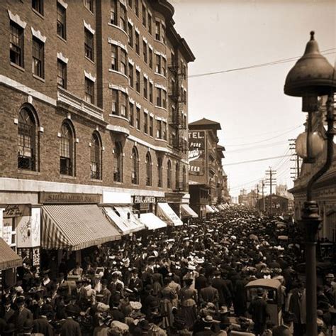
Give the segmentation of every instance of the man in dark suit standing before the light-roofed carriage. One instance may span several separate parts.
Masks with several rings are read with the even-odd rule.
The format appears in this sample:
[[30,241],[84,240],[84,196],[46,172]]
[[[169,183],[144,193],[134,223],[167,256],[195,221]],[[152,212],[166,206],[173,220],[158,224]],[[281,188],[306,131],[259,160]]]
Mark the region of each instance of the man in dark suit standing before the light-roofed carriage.
[[262,288],[257,288],[257,298],[254,298],[250,303],[248,312],[252,316],[254,322],[255,335],[262,335],[266,327],[266,320],[269,318],[269,311],[267,310],[267,302],[262,297],[264,291]]

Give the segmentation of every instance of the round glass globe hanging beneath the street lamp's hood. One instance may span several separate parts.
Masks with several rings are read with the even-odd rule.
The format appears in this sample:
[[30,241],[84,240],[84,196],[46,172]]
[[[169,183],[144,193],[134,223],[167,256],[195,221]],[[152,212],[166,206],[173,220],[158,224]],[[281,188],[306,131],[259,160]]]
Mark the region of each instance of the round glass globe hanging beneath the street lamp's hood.
[[303,159],[314,159],[320,156],[320,153],[323,152],[323,148],[325,147],[325,141],[322,136],[318,132],[313,132],[310,134],[310,157],[308,158],[307,154],[307,132],[303,132],[299,134],[298,138],[295,141],[296,153],[300,158]]

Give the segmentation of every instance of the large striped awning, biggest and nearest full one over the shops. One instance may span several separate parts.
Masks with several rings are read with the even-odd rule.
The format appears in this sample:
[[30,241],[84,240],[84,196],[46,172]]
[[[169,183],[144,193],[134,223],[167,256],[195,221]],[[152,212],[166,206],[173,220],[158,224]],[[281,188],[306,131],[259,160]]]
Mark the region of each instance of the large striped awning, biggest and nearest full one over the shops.
[[77,251],[121,239],[98,205],[43,205],[43,249]]

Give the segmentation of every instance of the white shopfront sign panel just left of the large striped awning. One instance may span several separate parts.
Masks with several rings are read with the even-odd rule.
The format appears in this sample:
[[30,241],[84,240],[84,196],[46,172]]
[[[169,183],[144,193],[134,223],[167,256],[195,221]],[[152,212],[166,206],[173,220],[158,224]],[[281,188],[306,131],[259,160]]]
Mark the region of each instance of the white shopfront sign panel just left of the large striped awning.
[[31,210],[31,216],[23,216],[16,227],[16,244],[18,247],[40,246],[40,208]]

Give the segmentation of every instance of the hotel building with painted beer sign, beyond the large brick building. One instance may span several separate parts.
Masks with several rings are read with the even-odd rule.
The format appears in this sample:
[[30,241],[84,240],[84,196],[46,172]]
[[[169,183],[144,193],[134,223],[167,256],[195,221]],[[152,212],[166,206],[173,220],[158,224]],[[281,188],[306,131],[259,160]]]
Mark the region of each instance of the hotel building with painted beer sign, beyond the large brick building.
[[190,204],[200,216],[206,214],[206,205],[224,201],[227,180],[222,166],[225,148],[218,144],[220,129],[218,122],[205,118],[189,124],[189,192],[194,196]]

